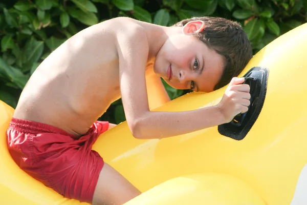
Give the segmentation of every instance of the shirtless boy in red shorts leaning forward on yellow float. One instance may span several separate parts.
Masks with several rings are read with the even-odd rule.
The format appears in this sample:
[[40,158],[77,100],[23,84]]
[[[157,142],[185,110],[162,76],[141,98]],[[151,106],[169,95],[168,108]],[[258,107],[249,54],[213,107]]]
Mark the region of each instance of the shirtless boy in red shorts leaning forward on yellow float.
[[[224,18],[191,18],[172,27],[106,20],[68,39],[33,73],[7,131],[9,151],[21,169],[64,197],[123,204],[140,191],[91,150],[114,126],[96,120],[121,97],[128,127],[140,139],[229,122],[249,106],[249,86],[234,76],[251,56],[242,28]],[[232,80],[216,106],[151,112],[150,97],[169,100],[160,77],[174,88],[202,92]]]

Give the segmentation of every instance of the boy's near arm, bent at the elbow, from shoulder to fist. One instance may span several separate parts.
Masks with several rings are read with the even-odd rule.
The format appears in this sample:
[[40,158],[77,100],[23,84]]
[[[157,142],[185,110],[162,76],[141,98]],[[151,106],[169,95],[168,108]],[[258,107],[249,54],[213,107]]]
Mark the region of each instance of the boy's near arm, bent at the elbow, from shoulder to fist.
[[[120,32],[117,38],[123,107],[128,127],[136,138],[186,134],[223,124],[236,114],[247,111],[248,85],[233,85],[217,106],[184,112],[151,112],[145,80],[149,51],[146,35],[141,28],[131,28],[129,32]],[[237,82],[243,83],[243,80]]]

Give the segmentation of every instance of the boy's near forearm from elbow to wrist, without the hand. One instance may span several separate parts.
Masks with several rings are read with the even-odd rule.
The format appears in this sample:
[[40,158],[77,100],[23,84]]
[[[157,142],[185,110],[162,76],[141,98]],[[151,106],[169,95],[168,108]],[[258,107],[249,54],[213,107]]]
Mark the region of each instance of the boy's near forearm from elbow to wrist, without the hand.
[[146,112],[132,131],[140,139],[166,138],[224,123],[221,109],[212,106],[184,112]]

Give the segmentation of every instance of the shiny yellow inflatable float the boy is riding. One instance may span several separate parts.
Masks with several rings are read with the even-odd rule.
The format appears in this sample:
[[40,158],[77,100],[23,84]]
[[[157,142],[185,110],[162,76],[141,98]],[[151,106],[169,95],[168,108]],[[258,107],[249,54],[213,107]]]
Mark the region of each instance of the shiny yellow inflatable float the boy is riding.
[[[248,113],[229,124],[166,139],[135,139],[126,122],[93,149],[143,194],[127,204],[307,204],[307,24],[259,51],[240,76],[251,86]],[[190,93],[157,108],[217,104],[226,87]],[[13,109],[0,103],[0,203],[81,204],[20,170],[5,132]],[[85,204],[85,203],[83,203]]]

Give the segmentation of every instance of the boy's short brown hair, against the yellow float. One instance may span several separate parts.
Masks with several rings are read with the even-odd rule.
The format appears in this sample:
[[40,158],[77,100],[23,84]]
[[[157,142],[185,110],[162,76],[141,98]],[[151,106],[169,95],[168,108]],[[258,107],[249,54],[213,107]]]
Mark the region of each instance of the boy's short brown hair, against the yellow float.
[[229,84],[231,78],[239,75],[252,58],[250,42],[238,23],[222,17],[193,17],[173,26],[184,26],[192,20],[202,20],[205,23],[204,30],[194,36],[225,58],[222,77],[214,86],[214,90],[217,90]]

